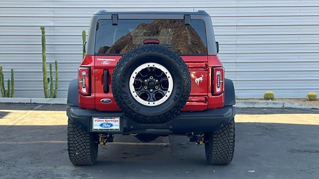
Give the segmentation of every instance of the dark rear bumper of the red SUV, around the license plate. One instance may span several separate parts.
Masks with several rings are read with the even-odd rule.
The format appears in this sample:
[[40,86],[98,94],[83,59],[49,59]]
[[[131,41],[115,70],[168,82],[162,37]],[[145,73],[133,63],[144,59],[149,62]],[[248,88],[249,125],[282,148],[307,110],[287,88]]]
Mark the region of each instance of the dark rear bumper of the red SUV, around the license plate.
[[121,117],[121,131],[114,134],[150,133],[150,134],[180,134],[186,132],[213,132],[228,123],[236,113],[233,106],[204,111],[182,111],[178,116],[162,124],[140,124],[122,112],[102,112],[83,109],[78,106],[68,106],[67,116],[74,123],[88,132],[92,131],[92,117]]

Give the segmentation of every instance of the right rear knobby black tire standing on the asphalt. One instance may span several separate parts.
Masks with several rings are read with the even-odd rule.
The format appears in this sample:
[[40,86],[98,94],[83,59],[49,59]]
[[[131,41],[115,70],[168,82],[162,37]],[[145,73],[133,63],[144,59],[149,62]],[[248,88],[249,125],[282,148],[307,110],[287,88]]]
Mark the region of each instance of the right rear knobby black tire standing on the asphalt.
[[206,160],[212,165],[227,165],[234,156],[235,121],[231,119],[215,132],[205,133]]

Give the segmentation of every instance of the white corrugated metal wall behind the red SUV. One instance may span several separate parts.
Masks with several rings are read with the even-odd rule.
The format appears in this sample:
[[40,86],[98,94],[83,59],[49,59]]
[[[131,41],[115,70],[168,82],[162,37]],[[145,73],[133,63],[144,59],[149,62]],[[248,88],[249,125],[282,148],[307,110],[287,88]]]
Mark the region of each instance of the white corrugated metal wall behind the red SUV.
[[319,93],[319,0],[0,0],[0,66],[16,97],[43,97],[40,26],[47,62],[59,62],[58,97],[81,62],[81,31],[97,9],[206,10],[236,95]]

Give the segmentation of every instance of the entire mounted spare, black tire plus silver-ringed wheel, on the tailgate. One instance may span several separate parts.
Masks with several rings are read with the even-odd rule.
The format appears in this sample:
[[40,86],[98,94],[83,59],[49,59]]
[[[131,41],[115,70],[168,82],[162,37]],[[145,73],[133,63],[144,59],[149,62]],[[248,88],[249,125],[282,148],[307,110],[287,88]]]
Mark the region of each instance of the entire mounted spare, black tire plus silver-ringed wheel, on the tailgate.
[[112,92],[126,116],[139,123],[164,123],[187,102],[190,76],[185,62],[171,49],[138,46],[119,60]]

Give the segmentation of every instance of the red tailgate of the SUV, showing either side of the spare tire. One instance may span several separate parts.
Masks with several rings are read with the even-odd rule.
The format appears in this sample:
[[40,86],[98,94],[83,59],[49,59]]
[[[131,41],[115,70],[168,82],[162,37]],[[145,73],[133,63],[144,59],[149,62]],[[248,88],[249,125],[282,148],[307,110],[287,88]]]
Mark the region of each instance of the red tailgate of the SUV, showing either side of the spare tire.
[[[120,110],[113,98],[111,78],[113,69],[121,57],[95,56],[95,107],[98,110]],[[209,82],[207,56],[181,57],[186,62],[191,77],[190,96],[183,110],[205,110]]]

